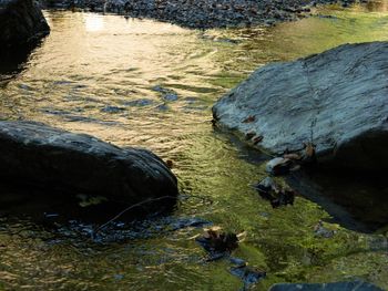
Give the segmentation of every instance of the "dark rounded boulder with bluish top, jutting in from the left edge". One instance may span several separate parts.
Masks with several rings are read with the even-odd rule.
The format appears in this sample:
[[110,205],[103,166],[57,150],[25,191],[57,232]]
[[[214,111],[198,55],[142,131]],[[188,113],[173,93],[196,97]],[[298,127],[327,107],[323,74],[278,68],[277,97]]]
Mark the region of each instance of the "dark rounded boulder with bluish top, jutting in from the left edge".
[[[176,178],[145,149],[119,148],[90,135],[31,122],[0,122],[0,177],[73,194],[139,202],[177,196]],[[171,205],[174,199],[155,205]]]

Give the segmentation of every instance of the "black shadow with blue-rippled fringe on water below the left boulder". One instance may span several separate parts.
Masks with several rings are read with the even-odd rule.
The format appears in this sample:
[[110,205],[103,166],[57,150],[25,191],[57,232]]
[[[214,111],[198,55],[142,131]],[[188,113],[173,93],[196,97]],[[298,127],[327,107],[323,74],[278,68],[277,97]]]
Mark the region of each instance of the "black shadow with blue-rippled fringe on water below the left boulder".
[[[57,239],[86,239],[89,242],[123,242],[157,236],[161,231],[198,227],[208,222],[196,218],[174,218],[176,204],[146,206],[112,201],[92,196],[43,188],[33,184],[12,185],[0,181],[0,218],[29,221],[54,235]],[[154,231],[151,231],[153,229]]]

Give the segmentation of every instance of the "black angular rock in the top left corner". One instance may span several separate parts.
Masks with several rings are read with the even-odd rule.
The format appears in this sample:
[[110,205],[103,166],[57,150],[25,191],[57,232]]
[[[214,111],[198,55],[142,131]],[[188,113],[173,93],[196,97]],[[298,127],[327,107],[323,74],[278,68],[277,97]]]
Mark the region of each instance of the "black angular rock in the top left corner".
[[34,0],[0,0],[0,50],[33,44],[50,32]]

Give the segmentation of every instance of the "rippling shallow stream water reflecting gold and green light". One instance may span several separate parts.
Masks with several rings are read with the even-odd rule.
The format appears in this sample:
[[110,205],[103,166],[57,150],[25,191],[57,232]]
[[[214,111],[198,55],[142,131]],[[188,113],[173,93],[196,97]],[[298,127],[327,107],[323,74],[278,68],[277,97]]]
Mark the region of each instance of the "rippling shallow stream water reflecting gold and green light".
[[[227,260],[205,262],[193,239],[202,227],[187,224],[188,218],[247,231],[233,256],[268,274],[252,289],[355,278],[387,289],[386,237],[335,224],[325,225],[335,230],[333,238],[317,237],[314,227],[330,217],[303,197],[294,207],[273,209],[249,187],[265,176],[265,157],[234,144],[210,122],[216,98],[259,65],[345,42],[388,40],[387,6],[329,7],[315,18],[275,28],[206,32],[47,11],[50,37],[19,74],[2,70],[1,118],[33,119],[120,146],[147,147],[173,160],[183,197],[171,220],[132,232],[116,225],[93,241],[91,226],[44,217],[71,217],[65,202],[31,199],[39,190],[3,188],[0,289],[242,288]],[[176,227],[181,220],[186,222]]]

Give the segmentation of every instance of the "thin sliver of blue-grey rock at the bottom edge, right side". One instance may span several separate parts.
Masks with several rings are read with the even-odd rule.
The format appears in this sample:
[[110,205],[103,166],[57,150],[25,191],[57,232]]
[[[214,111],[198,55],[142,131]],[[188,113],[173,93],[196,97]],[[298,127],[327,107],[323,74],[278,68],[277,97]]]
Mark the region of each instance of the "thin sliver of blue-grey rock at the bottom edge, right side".
[[354,282],[335,282],[323,284],[308,283],[280,283],[274,284],[269,291],[382,291],[374,284],[354,281]]

